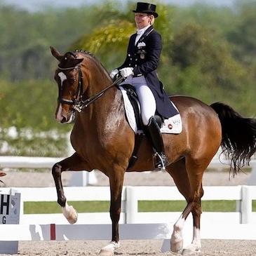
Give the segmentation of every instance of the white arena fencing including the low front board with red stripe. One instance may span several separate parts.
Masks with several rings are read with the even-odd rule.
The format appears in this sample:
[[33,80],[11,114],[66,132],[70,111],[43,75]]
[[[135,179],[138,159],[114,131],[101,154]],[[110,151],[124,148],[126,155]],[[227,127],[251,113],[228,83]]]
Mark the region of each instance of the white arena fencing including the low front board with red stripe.
[[[20,191],[22,202],[56,201],[54,187],[1,188],[1,194]],[[203,200],[232,200],[237,202],[236,213],[206,213],[201,218],[202,239],[256,240],[256,215],[252,200],[256,200],[255,186],[205,187]],[[65,187],[69,201],[109,201],[109,187]],[[184,200],[176,187],[124,187],[120,220],[121,239],[169,239],[173,224],[181,213],[141,213],[138,201]],[[86,202],[85,202],[86,203]],[[21,209],[22,212],[22,209]],[[187,223],[188,222],[188,223]],[[184,227],[184,245],[192,237],[191,216]],[[41,240],[110,240],[109,213],[79,213],[78,222],[67,224],[62,214],[25,215],[20,224],[1,225],[0,241]],[[244,223],[244,224],[241,224]],[[162,250],[168,250],[165,243]]]

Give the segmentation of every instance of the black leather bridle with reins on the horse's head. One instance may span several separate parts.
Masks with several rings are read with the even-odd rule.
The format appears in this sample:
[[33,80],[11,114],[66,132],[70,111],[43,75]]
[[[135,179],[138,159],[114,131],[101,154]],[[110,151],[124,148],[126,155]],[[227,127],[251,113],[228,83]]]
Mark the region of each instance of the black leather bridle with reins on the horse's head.
[[[74,56],[74,58],[77,58],[76,55],[74,55],[74,53],[70,53],[70,54],[72,54]],[[81,65],[79,64],[74,67],[60,67],[60,65],[58,65],[58,69],[60,69],[62,71],[78,69],[79,81],[78,81],[78,86],[76,88],[76,93],[74,95],[74,98],[72,100],[67,100],[67,99],[63,98],[62,97],[62,88],[60,88],[58,101],[63,104],[73,105],[74,111],[77,111],[79,113],[82,112],[82,110],[85,107],[88,107],[88,105],[90,105],[95,100],[97,100],[99,97],[101,97],[107,90],[109,90],[113,86],[116,86],[117,83],[123,81],[123,77],[120,76],[110,86],[108,86],[104,90],[100,91],[100,93],[97,93],[97,94],[93,95],[92,97],[89,97],[88,99],[83,100],[83,93],[84,93],[83,92],[83,73],[81,72]]]

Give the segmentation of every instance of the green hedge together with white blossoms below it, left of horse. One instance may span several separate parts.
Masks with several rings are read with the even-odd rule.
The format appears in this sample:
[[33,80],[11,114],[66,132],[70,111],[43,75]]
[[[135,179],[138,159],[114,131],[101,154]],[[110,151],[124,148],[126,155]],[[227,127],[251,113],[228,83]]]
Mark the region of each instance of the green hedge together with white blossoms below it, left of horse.
[[66,156],[72,125],[55,121],[54,81],[4,81],[0,94],[1,155]]

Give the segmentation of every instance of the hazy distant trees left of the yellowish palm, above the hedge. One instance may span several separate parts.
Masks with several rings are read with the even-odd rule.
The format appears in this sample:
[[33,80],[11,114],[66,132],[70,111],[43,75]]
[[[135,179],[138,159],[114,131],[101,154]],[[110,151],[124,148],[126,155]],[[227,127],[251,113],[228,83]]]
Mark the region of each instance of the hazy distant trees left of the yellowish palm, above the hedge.
[[52,79],[55,62],[49,46],[67,50],[78,36],[90,32],[90,17],[87,8],[28,13],[0,3],[1,77]]

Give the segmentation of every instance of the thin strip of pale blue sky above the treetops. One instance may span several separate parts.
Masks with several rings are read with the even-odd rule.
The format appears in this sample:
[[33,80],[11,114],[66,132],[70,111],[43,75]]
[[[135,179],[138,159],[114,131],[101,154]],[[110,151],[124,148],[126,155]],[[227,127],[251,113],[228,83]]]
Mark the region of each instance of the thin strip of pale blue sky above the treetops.
[[[27,11],[40,11],[43,7],[52,6],[54,8],[63,7],[79,7],[86,4],[102,3],[104,0],[0,0],[0,3],[14,5],[18,8],[24,8]],[[129,0],[118,0],[125,4]],[[133,0],[132,0],[133,1]],[[194,3],[210,4],[213,6],[231,6],[236,0],[159,0],[163,4],[174,4],[177,6],[189,6]],[[243,0],[241,0],[243,1]],[[134,1],[135,3],[137,1]],[[156,2],[156,1],[149,1]]]

